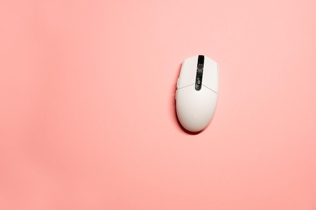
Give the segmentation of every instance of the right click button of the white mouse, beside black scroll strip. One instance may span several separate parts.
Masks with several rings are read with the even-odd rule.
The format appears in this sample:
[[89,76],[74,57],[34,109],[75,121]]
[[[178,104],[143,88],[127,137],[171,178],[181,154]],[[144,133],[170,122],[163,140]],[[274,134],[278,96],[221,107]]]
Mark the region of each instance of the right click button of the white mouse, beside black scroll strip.
[[202,85],[218,93],[218,64],[205,56]]

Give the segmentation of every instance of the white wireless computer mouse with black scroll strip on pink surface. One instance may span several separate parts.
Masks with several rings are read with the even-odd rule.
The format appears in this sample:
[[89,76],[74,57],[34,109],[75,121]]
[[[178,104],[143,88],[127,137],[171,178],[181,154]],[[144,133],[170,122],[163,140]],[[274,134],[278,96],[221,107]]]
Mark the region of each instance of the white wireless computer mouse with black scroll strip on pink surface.
[[218,64],[203,55],[183,61],[176,90],[176,110],[181,125],[203,130],[212,119],[218,96]]

